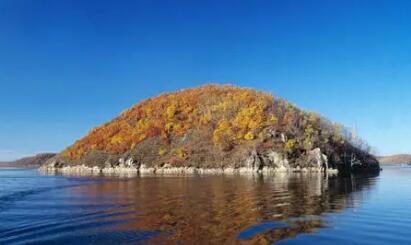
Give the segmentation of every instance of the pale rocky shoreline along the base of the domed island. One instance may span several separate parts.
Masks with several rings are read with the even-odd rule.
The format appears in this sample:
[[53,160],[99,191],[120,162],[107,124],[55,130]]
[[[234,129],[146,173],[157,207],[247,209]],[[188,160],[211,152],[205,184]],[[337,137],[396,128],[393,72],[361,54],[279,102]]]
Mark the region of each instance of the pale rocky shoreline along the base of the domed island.
[[319,148],[312,150],[307,157],[307,164],[303,167],[289,164],[283,154],[269,151],[265,154],[257,151],[250,152],[249,156],[239,166],[221,167],[193,167],[172,166],[159,164],[147,166],[133,157],[119,158],[118,162],[106,161],[103,166],[90,166],[86,164],[67,165],[54,159],[41,167],[43,172],[58,172],[70,175],[124,175],[124,174],[197,174],[197,175],[221,175],[221,174],[275,174],[275,173],[326,173],[337,174],[336,168],[329,168],[328,158],[321,153]]

